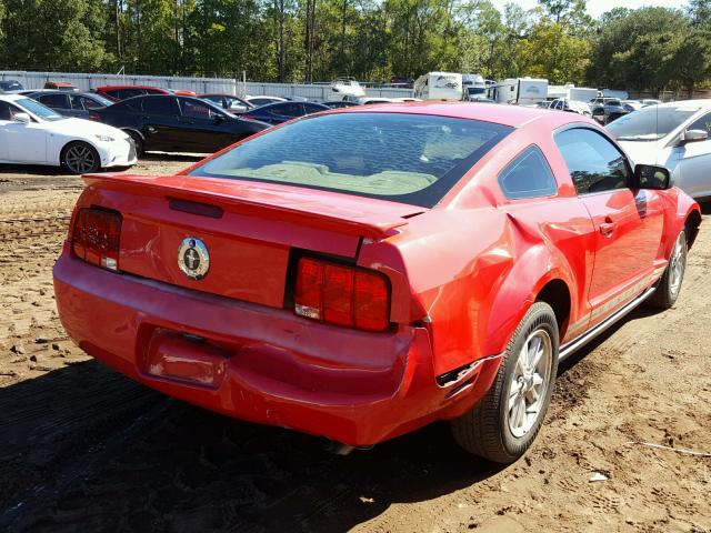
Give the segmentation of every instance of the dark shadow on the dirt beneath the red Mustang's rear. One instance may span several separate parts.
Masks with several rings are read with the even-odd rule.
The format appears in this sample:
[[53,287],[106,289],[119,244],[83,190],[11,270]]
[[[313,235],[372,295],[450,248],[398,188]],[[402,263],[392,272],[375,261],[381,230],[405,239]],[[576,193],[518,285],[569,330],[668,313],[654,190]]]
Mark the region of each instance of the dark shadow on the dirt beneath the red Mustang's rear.
[[0,531],[348,531],[502,467],[445,424],[338,456],[87,361],[0,389]]

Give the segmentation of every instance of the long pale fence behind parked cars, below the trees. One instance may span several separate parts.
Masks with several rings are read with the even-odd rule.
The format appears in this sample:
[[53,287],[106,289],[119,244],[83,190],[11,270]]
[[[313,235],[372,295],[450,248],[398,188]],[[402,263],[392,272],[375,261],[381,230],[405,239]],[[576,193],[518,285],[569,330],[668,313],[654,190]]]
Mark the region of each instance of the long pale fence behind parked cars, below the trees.
[[[0,71],[0,80],[17,80],[26,89],[42,89],[47,81],[64,81],[88,91],[101,86],[150,86],[163,89],[184,89],[198,94],[269,94],[272,97],[304,97],[309,100],[328,100],[328,83],[242,83],[233,78],[179,78],[169,76],[83,74],[68,72]],[[367,88],[369,97],[412,97],[411,89]]]

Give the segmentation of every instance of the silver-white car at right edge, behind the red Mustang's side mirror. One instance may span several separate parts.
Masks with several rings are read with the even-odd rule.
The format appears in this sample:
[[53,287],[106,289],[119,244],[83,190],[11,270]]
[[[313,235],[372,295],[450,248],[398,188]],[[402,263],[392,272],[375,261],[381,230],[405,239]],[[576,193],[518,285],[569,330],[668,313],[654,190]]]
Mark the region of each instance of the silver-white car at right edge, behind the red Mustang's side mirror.
[[667,167],[674,185],[711,198],[711,100],[649,105],[607,128],[635,164]]

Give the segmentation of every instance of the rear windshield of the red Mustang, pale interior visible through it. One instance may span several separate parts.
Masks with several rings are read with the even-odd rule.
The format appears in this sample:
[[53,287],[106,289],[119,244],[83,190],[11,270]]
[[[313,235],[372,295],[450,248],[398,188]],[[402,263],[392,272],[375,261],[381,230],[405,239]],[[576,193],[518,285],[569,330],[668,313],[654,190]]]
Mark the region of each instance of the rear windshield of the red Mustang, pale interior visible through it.
[[328,114],[252,139],[190,175],[289,183],[431,208],[511,130],[422,114]]

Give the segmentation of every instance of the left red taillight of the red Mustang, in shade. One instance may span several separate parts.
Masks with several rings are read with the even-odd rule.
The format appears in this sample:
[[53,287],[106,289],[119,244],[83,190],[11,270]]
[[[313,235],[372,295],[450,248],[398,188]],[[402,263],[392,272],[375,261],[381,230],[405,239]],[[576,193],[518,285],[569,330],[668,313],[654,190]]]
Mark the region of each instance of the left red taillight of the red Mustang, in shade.
[[121,214],[96,208],[77,212],[71,247],[79,259],[108,270],[119,270]]

